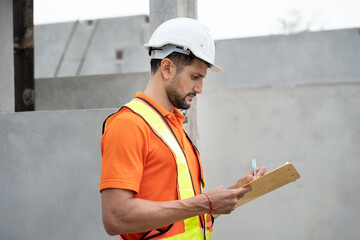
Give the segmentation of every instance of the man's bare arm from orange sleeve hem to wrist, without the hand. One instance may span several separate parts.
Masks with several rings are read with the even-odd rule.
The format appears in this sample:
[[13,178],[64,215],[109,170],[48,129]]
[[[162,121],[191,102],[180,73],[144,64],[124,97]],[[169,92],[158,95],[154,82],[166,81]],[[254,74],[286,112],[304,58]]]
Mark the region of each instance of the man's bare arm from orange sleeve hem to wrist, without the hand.
[[106,191],[102,194],[103,221],[110,235],[146,232],[209,212],[209,203],[204,195],[166,202],[122,196],[114,202],[104,194],[107,194]]

